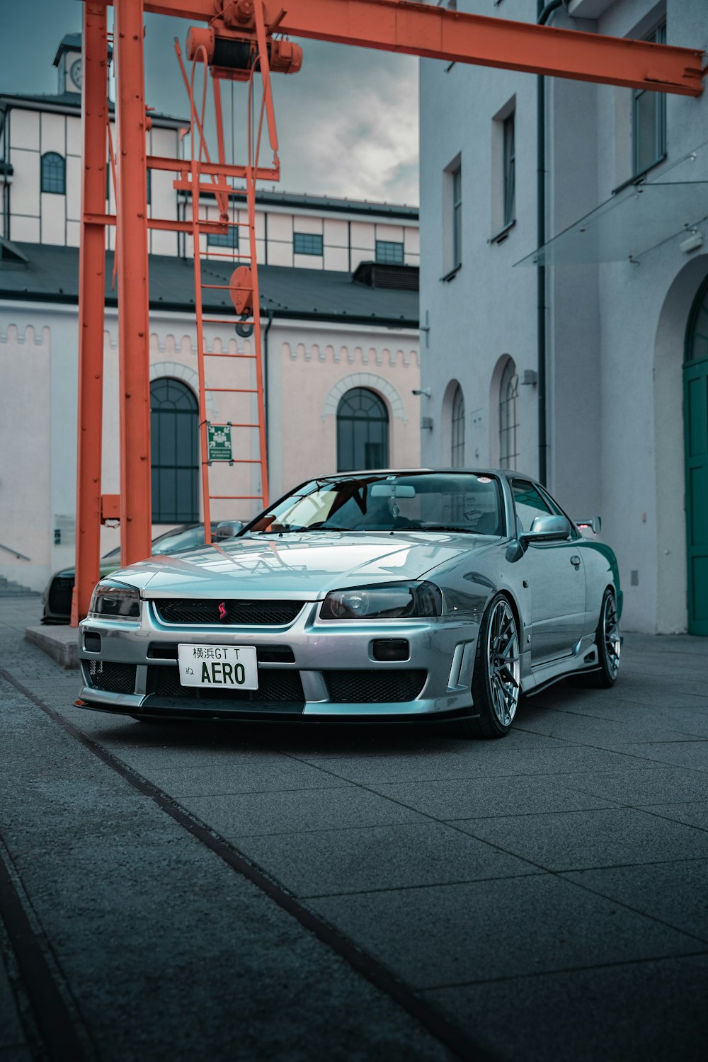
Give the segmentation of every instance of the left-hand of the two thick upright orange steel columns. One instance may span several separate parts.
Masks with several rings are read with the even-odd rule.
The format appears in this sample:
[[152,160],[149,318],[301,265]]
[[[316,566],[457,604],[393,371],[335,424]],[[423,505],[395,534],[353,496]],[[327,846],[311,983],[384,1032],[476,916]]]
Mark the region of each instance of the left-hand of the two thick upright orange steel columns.
[[71,624],[88,612],[101,555],[101,414],[105,228],[86,221],[105,210],[106,10],[84,4],[82,234],[79,255],[79,426],[76,441],[76,578]]

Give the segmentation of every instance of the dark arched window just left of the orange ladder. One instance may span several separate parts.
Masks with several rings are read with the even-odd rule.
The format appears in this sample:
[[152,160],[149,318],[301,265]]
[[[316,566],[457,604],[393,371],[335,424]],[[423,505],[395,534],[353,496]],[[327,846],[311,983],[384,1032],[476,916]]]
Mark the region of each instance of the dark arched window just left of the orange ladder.
[[200,424],[196,398],[180,380],[150,384],[153,521],[189,524],[200,518]]

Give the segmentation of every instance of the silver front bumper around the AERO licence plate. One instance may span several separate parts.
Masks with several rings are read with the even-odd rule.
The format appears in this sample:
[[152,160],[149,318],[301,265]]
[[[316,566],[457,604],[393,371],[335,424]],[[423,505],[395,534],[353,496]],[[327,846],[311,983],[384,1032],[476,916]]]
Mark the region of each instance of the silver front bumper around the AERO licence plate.
[[[139,622],[90,617],[80,626],[82,706],[143,718],[395,721],[469,718],[478,627],[453,617],[317,619],[308,602],[281,627],[179,626],[143,602]],[[100,637],[100,646],[97,639]],[[402,661],[377,661],[373,644],[404,638]],[[177,645],[255,646],[253,692],[182,687]]]

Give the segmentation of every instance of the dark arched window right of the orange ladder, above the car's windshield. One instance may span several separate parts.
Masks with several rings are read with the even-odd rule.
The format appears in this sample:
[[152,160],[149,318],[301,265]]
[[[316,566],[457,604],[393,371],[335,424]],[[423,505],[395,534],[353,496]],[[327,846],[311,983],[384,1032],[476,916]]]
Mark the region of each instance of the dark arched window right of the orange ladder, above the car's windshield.
[[353,388],[336,409],[336,470],[385,468],[388,464],[388,413],[377,394]]

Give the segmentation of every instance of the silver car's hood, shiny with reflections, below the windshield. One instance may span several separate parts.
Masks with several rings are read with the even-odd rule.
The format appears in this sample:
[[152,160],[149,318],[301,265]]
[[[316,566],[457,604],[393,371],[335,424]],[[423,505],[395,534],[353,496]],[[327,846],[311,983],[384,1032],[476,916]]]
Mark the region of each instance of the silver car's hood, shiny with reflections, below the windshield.
[[153,556],[115,573],[146,598],[241,597],[316,600],[362,583],[420,579],[462,553],[486,550],[488,536],[442,533],[290,532],[217,543]]

